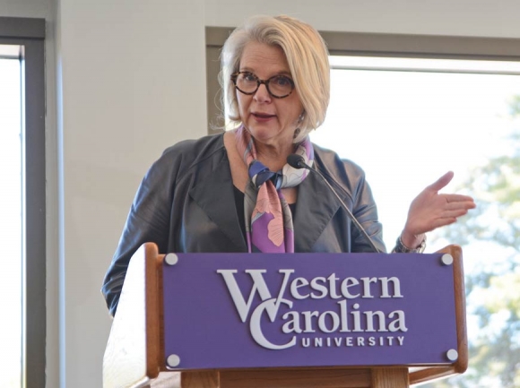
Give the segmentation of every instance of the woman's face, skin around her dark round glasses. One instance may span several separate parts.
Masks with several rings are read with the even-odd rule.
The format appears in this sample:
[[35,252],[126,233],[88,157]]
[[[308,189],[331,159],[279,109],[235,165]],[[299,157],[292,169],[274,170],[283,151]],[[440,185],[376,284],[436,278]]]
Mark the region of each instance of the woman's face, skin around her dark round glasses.
[[[273,75],[291,78],[282,48],[258,42],[249,42],[244,47],[238,71],[253,73],[260,80],[268,80]],[[303,112],[296,90],[283,99],[270,95],[264,84],[252,95],[236,93],[242,123],[257,143],[279,148],[292,144]]]

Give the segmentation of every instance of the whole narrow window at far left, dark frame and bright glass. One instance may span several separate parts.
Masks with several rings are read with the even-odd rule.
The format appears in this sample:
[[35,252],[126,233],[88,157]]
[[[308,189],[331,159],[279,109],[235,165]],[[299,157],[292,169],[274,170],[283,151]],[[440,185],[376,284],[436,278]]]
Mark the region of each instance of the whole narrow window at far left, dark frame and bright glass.
[[[7,114],[12,117],[9,130],[6,123],[0,125],[2,140],[5,140],[1,167],[5,184],[3,201],[8,196],[13,201],[12,206],[8,206],[13,219],[5,222],[3,217],[0,225],[3,248],[13,248],[10,254],[4,250],[4,260],[9,262],[5,265],[15,276],[2,283],[2,294],[7,296],[2,299],[2,309],[6,311],[3,319],[7,324],[18,326],[13,332],[7,332],[3,326],[3,332],[12,335],[9,339],[12,342],[0,352],[13,375],[11,378],[3,375],[2,379],[9,379],[0,381],[9,388],[45,386],[44,37],[44,20],[0,18],[0,61],[3,64],[0,77],[6,77],[2,82],[5,87],[2,97],[7,99],[3,102],[2,119],[6,119]],[[7,91],[8,84],[12,86],[10,91]],[[9,104],[9,108],[4,103]],[[6,157],[10,159],[6,161]],[[8,177],[13,180],[8,181]],[[10,305],[4,306],[6,303]],[[4,338],[2,340],[4,344]]]

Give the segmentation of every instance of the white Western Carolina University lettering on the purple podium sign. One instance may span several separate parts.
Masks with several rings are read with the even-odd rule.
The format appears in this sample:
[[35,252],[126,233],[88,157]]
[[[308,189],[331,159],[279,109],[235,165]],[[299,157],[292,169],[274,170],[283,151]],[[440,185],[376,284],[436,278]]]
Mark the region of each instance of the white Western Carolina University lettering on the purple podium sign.
[[[253,339],[266,349],[287,349],[297,344],[297,335],[305,333],[361,333],[361,332],[407,332],[406,319],[403,310],[394,310],[389,313],[383,311],[363,310],[360,303],[351,299],[368,298],[402,298],[401,283],[396,277],[381,278],[338,278],[335,273],[328,277],[306,279],[295,277],[290,279],[295,270],[279,270],[282,281],[277,289],[269,289],[265,282],[266,270],[245,270],[252,281],[248,292],[243,292],[238,286],[235,275],[238,270],[217,270],[230,292],[230,297],[237,308],[238,316],[243,323],[249,320],[249,330]],[[288,292],[286,292],[288,291]],[[286,294],[288,294],[286,296]],[[253,306],[259,297],[261,303]],[[294,311],[295,301],[311,298],[342,299],[337,301],[334,309],[326,311]],[[290,311],[281,317],[282,332],[292,334],[285,343],[273,343],[264,335],[262,328],[263,317],[275,322],[281,306]],[[325,342],[324,342],[325,340]],[[301,339],[301,346],[308,348],[331,346],[393,346],[403,345],[404,337],[324,337]]]

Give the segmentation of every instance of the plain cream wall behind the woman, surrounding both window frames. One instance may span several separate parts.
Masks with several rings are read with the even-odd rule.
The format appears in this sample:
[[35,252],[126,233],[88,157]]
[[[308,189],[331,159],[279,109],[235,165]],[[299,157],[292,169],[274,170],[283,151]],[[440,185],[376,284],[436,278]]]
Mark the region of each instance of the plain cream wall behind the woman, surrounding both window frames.
[[48,20],[48,388],[101,386],[100,285],[134,191],[165,147],[206,132],[204,25],[255,13],[520,38],[516,0],[0,0],[0,16]]

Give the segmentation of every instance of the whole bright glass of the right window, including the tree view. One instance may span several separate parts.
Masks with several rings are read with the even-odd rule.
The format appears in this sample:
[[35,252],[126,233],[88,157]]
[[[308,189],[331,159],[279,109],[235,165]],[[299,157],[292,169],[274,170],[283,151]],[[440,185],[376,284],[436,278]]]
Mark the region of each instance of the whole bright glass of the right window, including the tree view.
[[[388,248],[415,195],[450,169],[455,178],[447,191],[471,194],[479,205],[465,220],[429,233],[429,252],[448,244],[463,246],[468,290],[470,366],[466,375],[442,386],[448,381],[464,387],[516,386],[520,316],[518,298],[508,297],[507,289],[516,289],[520,280],[520,272],[510,271],[520,263],[520,252],[515,252],[520,240],[515,218],[487,209],[485,202],[509,210],[520,206],[518,199],[502,200],[504,193],[515,192],[520,175],[512,172],[513,178],[499,187],[487,184],[485,193],[473,182],[484,175],[492,180],[493,174],[507,174],[518,165],[514,155],[520,147],[511,136],[520,124],[515,110],[520,62],[373,56],[330,60],[331,104],[325,124],[311,139],[364,168]],[[507,228],[498,227],[503,222]],[[482,236],[482,223],[506,239]],[[467,236],[461,238],[462,233]]]

